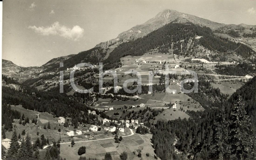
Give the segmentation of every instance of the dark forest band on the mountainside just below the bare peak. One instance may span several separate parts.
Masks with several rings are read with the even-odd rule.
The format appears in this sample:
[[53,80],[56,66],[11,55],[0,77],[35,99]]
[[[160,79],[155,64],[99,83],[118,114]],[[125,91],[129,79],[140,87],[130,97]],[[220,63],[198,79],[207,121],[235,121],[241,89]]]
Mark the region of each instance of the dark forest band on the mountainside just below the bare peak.
[[[197,36],[201,36],[201,38],[196,39]],[[145,37],[120,44],[104,61],[104,67],[105,69],[118,67],[121,57],[143,55],[152,49],[158,49],[160,53],[169,53],[172,48],[174,54],[189,56],[199,45],[216,52],[216,54],[234,52],[244,58],[249,58],[254,53],[251,48],[243,44],[216,37],[210,28],[191,23],[170,23]]]

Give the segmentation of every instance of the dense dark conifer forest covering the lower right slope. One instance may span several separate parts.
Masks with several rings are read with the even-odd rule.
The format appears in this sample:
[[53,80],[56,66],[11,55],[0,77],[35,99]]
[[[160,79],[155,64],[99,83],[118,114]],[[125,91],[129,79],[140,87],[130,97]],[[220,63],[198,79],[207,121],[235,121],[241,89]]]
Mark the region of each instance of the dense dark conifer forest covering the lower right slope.
[[187,111],[188,120],[158,121],[151,130],[156,154],[163,160],[256,159],[256,94],[248,88],[255,88],[255,81],[256,77],[227,101],[226,95],[200,80],[199,93],[189,96],[205,111]]

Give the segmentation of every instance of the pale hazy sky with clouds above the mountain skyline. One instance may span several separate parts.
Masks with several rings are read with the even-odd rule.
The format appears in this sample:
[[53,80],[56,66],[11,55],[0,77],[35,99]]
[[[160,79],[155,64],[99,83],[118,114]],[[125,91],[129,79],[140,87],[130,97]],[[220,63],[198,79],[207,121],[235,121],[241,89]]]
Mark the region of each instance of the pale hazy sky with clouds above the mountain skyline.
[[256,0],[4,0],[2,58],[41,66],[114,39],[164,9],[256,25]]

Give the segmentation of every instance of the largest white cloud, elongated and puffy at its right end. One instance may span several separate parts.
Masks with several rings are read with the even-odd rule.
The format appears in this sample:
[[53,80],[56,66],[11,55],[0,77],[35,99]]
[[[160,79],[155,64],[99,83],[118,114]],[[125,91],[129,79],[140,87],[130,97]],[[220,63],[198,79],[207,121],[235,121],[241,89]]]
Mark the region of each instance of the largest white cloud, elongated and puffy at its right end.
[[66,26],[60,25],[59,22],[55,22],[52,26],[47,27],[29,26],[28,28],[44,36],[59,35],[71,40],[78,40],[84,33],[84,29],[79,26],[73,26],[73,28],[70,29]]

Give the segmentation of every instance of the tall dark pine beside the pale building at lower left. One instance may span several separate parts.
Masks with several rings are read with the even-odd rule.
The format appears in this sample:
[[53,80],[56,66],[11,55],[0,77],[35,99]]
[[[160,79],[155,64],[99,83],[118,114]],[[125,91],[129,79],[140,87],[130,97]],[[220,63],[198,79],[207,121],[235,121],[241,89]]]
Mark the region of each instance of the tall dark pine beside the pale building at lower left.
[[17,138],[17,132],[16,132],[16,129],[14,129],[11,137],[10,148],[8,150],[8,157],[13,159],[17,158],[19,148],[20,148],[20,145]]

